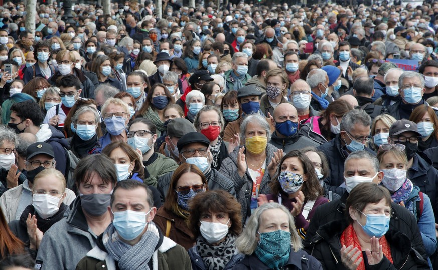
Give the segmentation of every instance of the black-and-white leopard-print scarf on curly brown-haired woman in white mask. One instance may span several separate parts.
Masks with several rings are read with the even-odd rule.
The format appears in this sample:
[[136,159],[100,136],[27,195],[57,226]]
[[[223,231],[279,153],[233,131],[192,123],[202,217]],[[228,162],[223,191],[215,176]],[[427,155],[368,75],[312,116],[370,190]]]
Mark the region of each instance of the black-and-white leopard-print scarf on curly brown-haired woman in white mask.
[[219,245],[212,246],[201,236],[196,240],[196,249],[209,270],[223,270],[236,251],[236,236],[228,234]]

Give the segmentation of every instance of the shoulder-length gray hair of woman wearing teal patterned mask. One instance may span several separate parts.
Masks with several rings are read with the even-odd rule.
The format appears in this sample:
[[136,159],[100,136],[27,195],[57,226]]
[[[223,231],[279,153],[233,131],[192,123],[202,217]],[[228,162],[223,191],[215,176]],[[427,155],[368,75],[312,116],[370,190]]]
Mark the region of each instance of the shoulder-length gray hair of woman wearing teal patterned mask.
[[298,252],[301,248],[303,248],[301,238],[300,236],[298,236],[297,229],[295,228],[294,218],[290,214],[290,211],[287,210],[287,208],[281,204],[275,202],[269,202],[255,209],[254,213],[251,215],[251,217],[248,220],[248,223],[246,224],[246,228],[237,238],[236,248],[237,250],[239,250],[240,253],[249,256],[255,252],[255,249],[257,248],[257,244],[258,244],[257,232],[260,229],[262,214],[266,210],[272,210],[272,209],[280,209],[284,213],[286,213],[289,221],[290,244],[292,245],[294,252]]

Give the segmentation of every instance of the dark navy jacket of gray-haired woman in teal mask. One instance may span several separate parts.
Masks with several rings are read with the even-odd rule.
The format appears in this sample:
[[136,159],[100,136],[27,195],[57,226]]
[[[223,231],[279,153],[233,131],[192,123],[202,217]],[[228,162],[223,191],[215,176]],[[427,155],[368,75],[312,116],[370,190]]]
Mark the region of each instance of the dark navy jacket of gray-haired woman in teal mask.
[[[264,264],[255,254],[245,256],[241,261],[234,266],[233,270],[268,270],[270,269]],[[319,270],[322,269],[321,263],[314,257],[309,256],[304,250],[294,252],[290,250],[289,260],[281,269],[287,270]]]

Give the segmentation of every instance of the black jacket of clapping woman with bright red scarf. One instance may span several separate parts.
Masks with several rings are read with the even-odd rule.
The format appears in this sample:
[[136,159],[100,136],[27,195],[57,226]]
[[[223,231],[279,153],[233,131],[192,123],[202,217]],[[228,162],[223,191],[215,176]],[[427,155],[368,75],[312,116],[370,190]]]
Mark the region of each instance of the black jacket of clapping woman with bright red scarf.
[[[340,236],[347,225],[342,219],[331,221],[321,226],[316,235],[310,239],[306,250],[321,262],[323,269],[347,269],[341,262],[340,242]],[[391,248],[393,264],[384,256],[378,264],[365,265],[366,269],[429,269],[427,260],[411,246],[406,234],[390,224],[385,238]]]

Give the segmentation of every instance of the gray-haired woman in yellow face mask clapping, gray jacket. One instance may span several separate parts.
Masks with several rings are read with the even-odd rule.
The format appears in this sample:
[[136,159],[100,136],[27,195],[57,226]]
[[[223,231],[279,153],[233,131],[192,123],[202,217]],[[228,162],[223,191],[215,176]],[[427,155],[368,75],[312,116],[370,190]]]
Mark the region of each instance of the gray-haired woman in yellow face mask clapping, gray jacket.
[[222,161],[219,172],[234,182],[237,200],[242,205],[242,218],[257,208],[259,194],[270,193],[269,182],[275,175],[283,151],[267,143],[271,132],[266,118],[248,114],[240,125],[240,147]]

